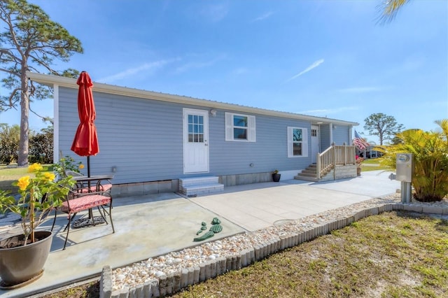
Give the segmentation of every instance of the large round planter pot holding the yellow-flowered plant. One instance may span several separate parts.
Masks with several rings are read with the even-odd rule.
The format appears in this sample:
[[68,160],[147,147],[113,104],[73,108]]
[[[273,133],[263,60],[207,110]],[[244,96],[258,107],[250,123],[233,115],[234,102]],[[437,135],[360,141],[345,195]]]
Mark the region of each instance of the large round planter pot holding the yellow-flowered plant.
[[[36,280],[43,272],[52,243],[52,233],[35,233],[38,241],[15,248],[0,248],[1,288],[18,288]],[[23,235],[12,236],[0,241],[0,246],[23,239]]]

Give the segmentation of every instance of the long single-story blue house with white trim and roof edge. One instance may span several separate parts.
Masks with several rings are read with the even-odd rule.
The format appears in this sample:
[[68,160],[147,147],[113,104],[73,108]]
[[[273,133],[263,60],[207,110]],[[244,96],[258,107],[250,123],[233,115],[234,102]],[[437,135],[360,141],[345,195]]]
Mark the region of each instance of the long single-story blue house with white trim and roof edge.
[[[55,162],[59,152],[85,162],[70,150],[79,124],[76,79],[27,76],[54,89]],[[113,174],[116,194],[179,191],[187,178],[258,183],[275,169],[292,179],[332,145],[353,147],[358,125],[104,83],[92,90],[99,153],[90,157],[91,174]],[[349,176],[356,176],[353,158],[344,162]]]

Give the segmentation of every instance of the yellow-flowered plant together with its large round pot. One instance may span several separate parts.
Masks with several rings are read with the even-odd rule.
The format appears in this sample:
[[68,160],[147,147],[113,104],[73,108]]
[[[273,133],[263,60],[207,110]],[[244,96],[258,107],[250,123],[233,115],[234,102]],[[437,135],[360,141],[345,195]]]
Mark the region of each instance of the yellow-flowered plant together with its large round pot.
[[43,171],[41,164],[28,167],[31,176],[23,176],[13,185],[18,187],[18,199],[0,191],[0,213],[8,211],[22,218],[22,234],[0,240],[0,286],[18,288],[36,280],[43,273],[43,264],[50,253],[52,232],[36,231],[53,208],[74,184],[71,176],[55,180],[55,174]]

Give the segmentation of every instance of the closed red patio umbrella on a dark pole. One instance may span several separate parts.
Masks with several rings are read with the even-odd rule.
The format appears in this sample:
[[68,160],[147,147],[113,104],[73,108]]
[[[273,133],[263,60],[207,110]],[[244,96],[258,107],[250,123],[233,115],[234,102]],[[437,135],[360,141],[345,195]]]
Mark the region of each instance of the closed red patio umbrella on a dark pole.
[[80,73],[78,81],[78,114],[80,124],[76,129],[75,139],[71,144],[71,150],[79,156],[87,156],[87,176],[90,177],[90,155],[99,152],[97,127],[94,125],[96,117],[93,102],[93,83],[87,72]]

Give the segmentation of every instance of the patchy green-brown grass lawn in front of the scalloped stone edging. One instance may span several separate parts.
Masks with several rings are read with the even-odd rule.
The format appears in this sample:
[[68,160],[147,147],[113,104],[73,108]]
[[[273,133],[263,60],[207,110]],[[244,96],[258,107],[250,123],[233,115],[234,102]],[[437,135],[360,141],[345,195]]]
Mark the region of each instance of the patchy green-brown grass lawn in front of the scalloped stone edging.
[[[447,251],[447,220],[382,213],[172,297],[447,297]],[[97,297],[94,289],[44,297]]]

